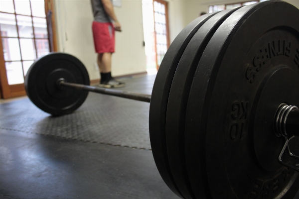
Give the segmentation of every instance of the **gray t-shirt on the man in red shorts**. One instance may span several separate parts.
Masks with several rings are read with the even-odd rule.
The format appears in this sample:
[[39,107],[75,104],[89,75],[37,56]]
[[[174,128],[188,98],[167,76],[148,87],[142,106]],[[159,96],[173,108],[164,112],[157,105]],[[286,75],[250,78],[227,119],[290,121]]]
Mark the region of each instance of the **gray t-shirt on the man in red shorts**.
[[101,23],[112,22],[112,19],[106,13],[102,0],[91,0],[92,11],[94,14],[95,21]]

